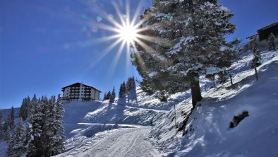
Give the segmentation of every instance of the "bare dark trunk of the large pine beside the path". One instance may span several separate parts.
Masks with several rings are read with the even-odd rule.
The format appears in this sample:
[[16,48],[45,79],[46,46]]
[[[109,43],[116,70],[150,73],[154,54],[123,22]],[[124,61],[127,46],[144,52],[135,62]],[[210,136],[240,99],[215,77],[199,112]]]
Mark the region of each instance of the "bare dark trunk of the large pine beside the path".
[[199,74],[191,74],[191,95],[192,95],[192,105],[193,108],[197,105],[197,102],[202,100],[202,95],[200,91]]

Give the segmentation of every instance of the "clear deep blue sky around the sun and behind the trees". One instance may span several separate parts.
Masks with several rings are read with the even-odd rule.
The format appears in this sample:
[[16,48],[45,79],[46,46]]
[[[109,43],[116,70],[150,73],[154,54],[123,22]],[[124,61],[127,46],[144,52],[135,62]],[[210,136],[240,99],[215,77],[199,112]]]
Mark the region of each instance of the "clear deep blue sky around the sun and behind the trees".
[[[150,6],[151,2],[144,0],[143,6]],[[238,29],[229,39],[244,40],[259,28],[278,21],[277,0],[219,2],[234,12],[232,22]],[[125,13],[126,1],[116,3]],[[139,0],[131,1],[131,14],[138,4]],[[120,83],[128,76],[140,79],[131,62],[126,62],[126,53],[112,64],[119,46],[98,59],[114,40],[95,42],[111,35],[95,28],[95,23],[108,24],[96,8],[119,20],[110,0],[91,0],[90,4],[81,0],[0,1],[0,108],[18,107],[23,98],[34,93],[56,95],[61,93],[61,87],[75,82],[101,91],[115,86],[118,93]]]

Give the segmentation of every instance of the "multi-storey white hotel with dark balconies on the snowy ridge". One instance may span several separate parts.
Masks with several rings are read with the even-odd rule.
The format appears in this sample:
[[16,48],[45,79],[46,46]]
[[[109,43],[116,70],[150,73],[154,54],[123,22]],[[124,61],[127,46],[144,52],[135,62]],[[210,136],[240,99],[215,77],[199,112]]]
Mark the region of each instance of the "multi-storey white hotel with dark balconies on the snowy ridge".
[[73,83],[63,87],[61,91],[63,91],[63,100],[70,101],[99,100],[99,93],[102,92],[95,87],[83,83]]

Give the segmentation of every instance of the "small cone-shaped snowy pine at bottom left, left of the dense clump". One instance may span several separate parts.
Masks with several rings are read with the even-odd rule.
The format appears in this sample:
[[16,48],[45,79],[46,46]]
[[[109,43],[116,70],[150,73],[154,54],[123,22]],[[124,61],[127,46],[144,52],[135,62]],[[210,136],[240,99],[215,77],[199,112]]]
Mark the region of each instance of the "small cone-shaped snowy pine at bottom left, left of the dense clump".
[[7,157],[20,157],[24,151],[24,137],[25,129],[23,126],[23,121],[20,118],[18,124],[16,125],[16,130],[13,134],[10,144],[8,144],[8,149],[6,151]]

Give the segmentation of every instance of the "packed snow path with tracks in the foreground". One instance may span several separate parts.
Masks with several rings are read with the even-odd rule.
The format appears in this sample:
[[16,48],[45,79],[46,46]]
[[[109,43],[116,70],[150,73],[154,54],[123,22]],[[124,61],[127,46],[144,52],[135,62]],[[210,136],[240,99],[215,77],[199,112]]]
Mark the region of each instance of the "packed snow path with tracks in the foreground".
[[136,127],[101,132],[59,156],[159,156],[149,141],[150,129]]

